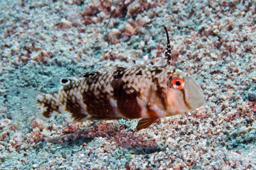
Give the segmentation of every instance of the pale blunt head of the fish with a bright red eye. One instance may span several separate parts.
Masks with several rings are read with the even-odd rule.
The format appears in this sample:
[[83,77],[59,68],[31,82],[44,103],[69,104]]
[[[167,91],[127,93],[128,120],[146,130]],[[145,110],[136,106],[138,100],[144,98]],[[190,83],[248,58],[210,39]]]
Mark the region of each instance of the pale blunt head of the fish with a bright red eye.
[[[170,73],[170,72],[168,72]],[[166,116],[177,115],[189,110],[195,110],[205,104],[204,93],[196,80],[179,69],[172,69],[172,72],[163,80],[164,103]]]

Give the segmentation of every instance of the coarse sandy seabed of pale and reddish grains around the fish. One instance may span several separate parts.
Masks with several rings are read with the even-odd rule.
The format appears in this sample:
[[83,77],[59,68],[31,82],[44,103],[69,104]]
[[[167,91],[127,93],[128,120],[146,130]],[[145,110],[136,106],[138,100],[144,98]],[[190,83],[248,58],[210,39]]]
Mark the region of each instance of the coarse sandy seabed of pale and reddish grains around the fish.
[[[1,1],[0,169],[256,169],[255,1]],[[138,120],[41,120],[13,87],[52,92],[61,77],[172,65],[207,103],[134,132]]]

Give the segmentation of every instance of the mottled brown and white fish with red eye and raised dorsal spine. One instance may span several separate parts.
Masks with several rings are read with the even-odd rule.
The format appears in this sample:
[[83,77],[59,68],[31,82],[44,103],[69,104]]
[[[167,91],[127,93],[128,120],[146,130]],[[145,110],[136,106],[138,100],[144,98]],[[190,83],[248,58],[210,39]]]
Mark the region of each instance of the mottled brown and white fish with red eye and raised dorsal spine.
[[188,73],[171,66],[169,35],[166,64],[104,68],[61,78],[62,87],[36,95],[38,111],[70,113],[75,121],[139,119],[137,131],[159,118],[195,110],[205,103],[204,93]]

